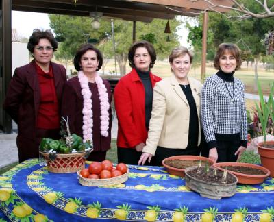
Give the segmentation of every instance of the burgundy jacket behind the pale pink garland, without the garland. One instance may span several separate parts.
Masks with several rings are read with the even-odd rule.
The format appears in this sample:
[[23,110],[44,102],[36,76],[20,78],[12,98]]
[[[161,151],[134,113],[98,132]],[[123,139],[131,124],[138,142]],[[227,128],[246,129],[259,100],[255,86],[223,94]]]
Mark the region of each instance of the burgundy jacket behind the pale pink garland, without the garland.
[[[103,79],[103,84],[105,88],[107,88],[108,93],[108,101],[111,104],[112,101],[112,93],[110,91],[110,84],[107,80]],[[96,84],[94,84],[97,87]],[[82,88],[79,83],[78,77],[73,77],[69,79],[68,82],[64,85],[64,93],[62,98],[62,108],[61,115],[69,116],[69,128],[71,134],[77,134],[78,136],[83,137],[83,95],[81,93]],[[110,139],[111,139],[111,127],[112,127],[112,110],[110,106],[109,110],[109,128],[108,128],[108,137],[101,136],[100,126],[100,104],[99,104],[99,94],[97,88],[92,88],[92,112],[93,112],[93,127],[92,127],[92,140],[93,140],[93,148],[94,151],[107,151],[110,149]],[[95,95],[94,92],[97,92]],[[97,99],[95,99],[97,97]],[[96,113],[98,115],[96,115]]]

